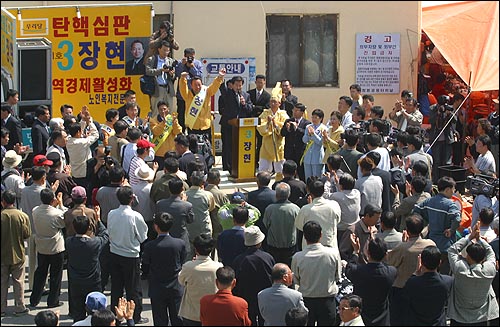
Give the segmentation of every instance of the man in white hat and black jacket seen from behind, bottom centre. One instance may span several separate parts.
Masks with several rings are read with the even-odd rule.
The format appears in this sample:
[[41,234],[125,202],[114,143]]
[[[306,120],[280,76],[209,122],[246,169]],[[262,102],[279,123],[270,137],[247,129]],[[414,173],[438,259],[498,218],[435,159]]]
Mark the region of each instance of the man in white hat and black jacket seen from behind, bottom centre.
[[233,289],[236,296],[248,302],[248,316],[252,326],[263,326],[264,319],[259,312],[257,294],[273,284],[271,272],[274,258],[261,250],[265,235],[257,226],[245,228],[245,246],[247,250],[233,261],[233,268],[238,283]]

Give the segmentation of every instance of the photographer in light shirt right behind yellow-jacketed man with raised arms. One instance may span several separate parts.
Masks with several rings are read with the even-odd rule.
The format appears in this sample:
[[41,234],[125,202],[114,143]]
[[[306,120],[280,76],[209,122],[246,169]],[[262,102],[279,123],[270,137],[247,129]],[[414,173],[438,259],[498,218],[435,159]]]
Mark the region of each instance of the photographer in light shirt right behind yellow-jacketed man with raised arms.
[[[175,77],[181,78],[182,73],[186,72],[187,75],[187,85],[189,92],[192,90],[191,79],[195,76],[203,76],[203,65],[201,61],[195,59],[196,51],[193,48],[184,49],[184,57],[181,62],[175,67]],[[179,114],[179,124],[182,126],[182,132],[186,130],[186,102],[184,101],[181,91],[179,90],[179,84],[177,83],[177,113]],[[189,104],[187,104],[189,105]],[[172,105],[171,105],[172,106]]]

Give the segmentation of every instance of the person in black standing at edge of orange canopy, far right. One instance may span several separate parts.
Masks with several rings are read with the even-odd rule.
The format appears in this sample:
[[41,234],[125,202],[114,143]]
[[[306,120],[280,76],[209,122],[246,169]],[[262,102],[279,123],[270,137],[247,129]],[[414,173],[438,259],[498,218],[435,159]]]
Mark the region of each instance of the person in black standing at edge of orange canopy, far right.
[[453,107],[450,105],[450,97],[440,95],[437,101],[438,103],[430,107],[429,115],[430,139],[434,140],[431,148],[434,160],[432,166],[434,183],[439,179],[438,167],[451,165],[451,144],[455,142],[454,131],[457,122],[457,117],[453,115]]

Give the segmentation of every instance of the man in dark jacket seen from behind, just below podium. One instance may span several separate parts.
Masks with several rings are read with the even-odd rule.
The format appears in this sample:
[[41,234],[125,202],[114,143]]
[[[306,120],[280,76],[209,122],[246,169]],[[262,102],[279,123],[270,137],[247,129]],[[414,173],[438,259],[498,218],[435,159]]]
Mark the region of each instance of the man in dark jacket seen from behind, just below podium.
[[248,192],[248,203],[257,207],[261,214],[255,225],[259,226],[264,235],[267,235],[267,229],[263,223],[264,211],[268,205],[276,202],[276,191],[269,187],[270,182],[271,174],[268,171],[260,171],[257,173],[257,189]]

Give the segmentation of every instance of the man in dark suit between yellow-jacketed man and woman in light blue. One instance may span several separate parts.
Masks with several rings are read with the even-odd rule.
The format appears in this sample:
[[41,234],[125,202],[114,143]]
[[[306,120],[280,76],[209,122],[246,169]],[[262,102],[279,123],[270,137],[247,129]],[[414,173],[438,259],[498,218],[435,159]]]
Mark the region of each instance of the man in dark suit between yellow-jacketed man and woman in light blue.
[[[304,175],[304,166],[300,164],[300,158],[306,148],[306,144],[302,141],[306,126],[311,122],[304,118],[306,106],[302,103],[297,103],[292,111],[292,118],[285,121],[281,128],[281,136],[285,138],[285,159],[293,160],[297,164],[297,173],[299,179],[306,182]],[[300,165],[300,166],[299,166]]]

